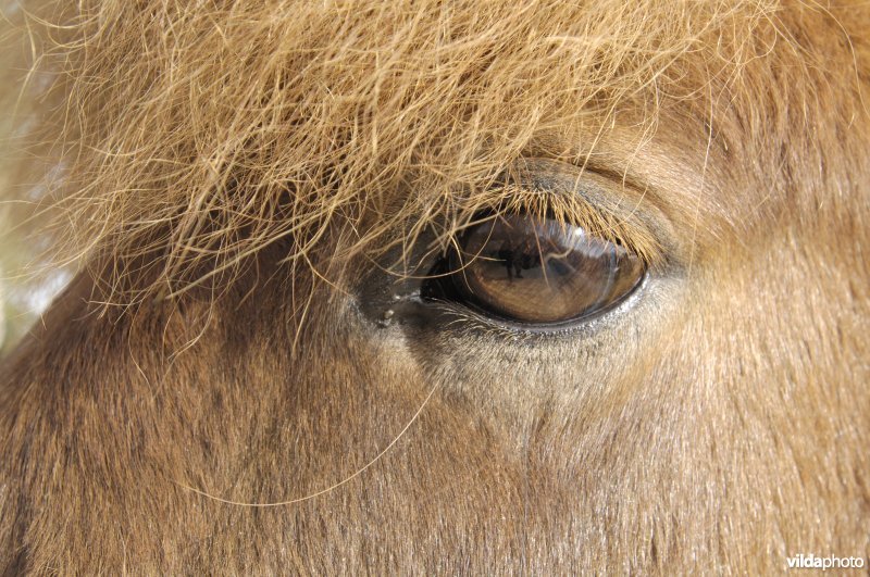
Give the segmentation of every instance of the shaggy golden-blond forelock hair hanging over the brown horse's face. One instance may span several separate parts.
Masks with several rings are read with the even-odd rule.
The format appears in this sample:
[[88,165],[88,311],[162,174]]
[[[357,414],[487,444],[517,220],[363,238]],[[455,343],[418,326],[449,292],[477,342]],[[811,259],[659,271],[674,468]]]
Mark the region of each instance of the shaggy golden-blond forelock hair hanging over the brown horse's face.
[[[4,46],[17,88],[4,97],[24,153],[3,193],[29,195],[35,212],[53,215],[53,262],[109,263],[105,302],[225,286],[282,239],[288,261],[312,265],[330,230],[341,239],[330,255],[340,271],[425,230],[447,246],[530,150],[586,166],[597,138],[625,122],[641,127],[641,146],[660,129],[664,102],[704,117],[731,106],[743,136],[760,137],[771,122],[757,109],[761,91],[778,89],[755,80],[770,73],[761,57],[801,63],[783,85],[821,66],[781,25],[805,11],[823,10],[763,0],[13,3]],[[563,145],[579,134],[589,136]],[[612,218],[601,225],[607,215],[568,202],[563,214],[655,260],[648,236],[613,233]],[[151,274],[139,278],[133,262]]]

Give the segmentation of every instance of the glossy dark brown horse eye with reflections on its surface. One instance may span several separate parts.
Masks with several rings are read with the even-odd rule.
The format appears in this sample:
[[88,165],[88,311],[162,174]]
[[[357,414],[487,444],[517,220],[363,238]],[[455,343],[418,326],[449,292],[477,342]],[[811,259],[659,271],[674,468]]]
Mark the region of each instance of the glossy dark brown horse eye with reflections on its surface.
[[552,218],[504,215],[477,224],[445,259],[424,297],[529,325],[579,321],[619,304],[646,267],[620,243]]

